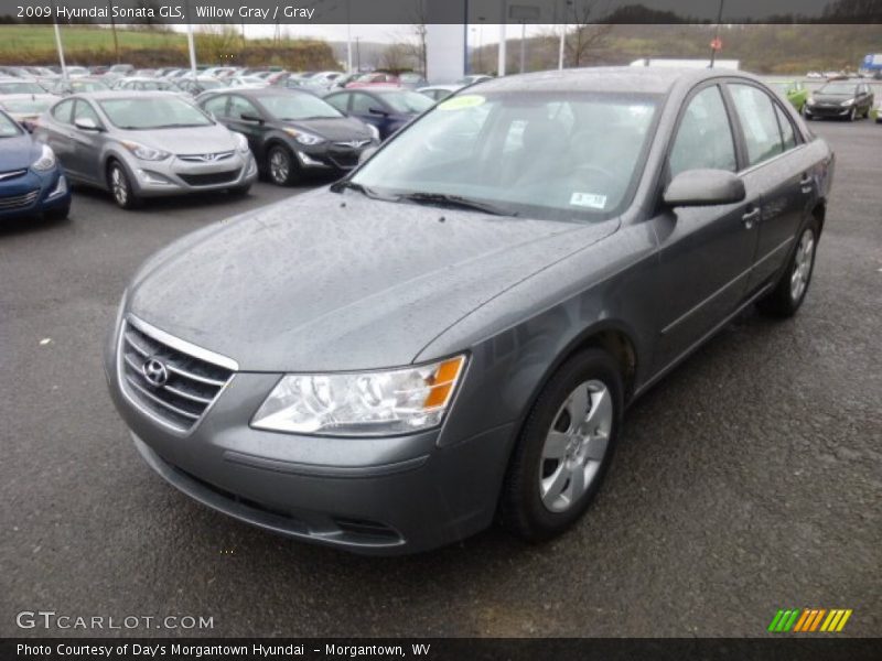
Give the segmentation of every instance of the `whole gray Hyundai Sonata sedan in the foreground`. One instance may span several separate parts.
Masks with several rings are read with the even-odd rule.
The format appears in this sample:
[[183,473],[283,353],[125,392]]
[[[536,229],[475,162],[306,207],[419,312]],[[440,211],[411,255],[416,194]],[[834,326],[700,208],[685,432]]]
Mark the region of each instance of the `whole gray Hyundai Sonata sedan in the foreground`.
[[793,315],[833,155],[724,71],[486,82],[344,180],[151,258],[106,350],[144,460],[362,553],[561,533],[631,402],[751,304]]

